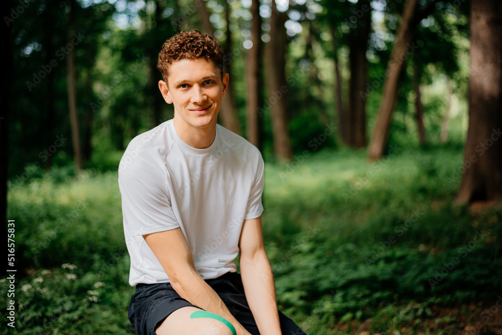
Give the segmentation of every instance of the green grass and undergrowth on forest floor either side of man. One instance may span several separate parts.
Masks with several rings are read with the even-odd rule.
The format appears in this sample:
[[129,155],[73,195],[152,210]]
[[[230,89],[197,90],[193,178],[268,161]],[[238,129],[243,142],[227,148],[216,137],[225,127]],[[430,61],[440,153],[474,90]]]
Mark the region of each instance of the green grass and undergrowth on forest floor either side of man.
[[[461,150],[396,152],[376,163],[341,149],[266,164],[264,239],[279,306],[309,334],[455,333],[433,306],[490,302],[502,287],[502,213],[452,206]],[[134,333],[116,173],[32,174],[10,188],[9,219],[22,307],[7,333]]]

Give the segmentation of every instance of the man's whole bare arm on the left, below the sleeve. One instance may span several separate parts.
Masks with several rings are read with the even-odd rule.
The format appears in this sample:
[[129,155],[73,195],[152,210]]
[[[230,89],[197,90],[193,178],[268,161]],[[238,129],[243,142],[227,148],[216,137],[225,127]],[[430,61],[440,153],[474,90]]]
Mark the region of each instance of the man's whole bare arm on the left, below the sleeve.
[[195,269],[192,253],[180,228],[143,235],[143,238],[182,298],[223,316],[233,324],[238,335],[250,335]]

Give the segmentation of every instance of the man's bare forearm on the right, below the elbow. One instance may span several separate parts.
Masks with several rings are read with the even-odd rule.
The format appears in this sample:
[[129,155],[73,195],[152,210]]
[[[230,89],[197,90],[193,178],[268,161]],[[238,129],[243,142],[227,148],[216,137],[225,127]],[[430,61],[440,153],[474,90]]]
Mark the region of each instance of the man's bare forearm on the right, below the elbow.
[[261,335],[280,335],[274,274],[265,251],[252,259],[240,259],[240,274],[247,303]]

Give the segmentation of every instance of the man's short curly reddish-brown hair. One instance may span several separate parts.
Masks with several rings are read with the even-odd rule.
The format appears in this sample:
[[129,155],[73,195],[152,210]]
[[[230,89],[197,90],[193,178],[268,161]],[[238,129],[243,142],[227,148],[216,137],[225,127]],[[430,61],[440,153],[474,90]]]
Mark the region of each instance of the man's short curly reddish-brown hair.
[[213,62],[223,78],[223,49],[214,38],[197,29],[182,31],[164,42],[159,53],[157,68],[167,83],[169,68],[174,61],[197,58]]

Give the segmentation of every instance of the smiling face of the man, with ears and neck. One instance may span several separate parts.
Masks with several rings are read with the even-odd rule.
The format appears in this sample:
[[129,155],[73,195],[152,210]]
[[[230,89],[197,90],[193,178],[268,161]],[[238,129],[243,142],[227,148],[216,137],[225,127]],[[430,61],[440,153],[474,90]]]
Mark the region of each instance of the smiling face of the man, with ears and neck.
[[197,58],[173,62],[168,82],[160,81],[159,89],[164,100],[174,105],[178,135],[200,138],[200,134],[212,133],[214,136],[227,87],[228,74],[221,78],[220,71],[211,61]]

